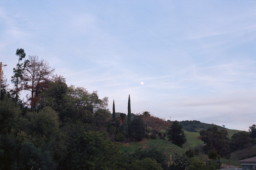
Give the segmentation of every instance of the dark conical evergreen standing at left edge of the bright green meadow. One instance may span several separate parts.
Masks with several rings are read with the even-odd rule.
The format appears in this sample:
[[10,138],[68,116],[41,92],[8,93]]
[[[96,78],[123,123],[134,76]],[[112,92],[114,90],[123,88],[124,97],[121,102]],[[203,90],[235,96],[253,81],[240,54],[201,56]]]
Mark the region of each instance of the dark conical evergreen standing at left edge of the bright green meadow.
[[167,130],[167,135],[169,140],[179,147],[182,147],[182,145],[187,142],[185,133],[182,131],[182,126],[177,120],[174,121],[170,126],[170,129]]

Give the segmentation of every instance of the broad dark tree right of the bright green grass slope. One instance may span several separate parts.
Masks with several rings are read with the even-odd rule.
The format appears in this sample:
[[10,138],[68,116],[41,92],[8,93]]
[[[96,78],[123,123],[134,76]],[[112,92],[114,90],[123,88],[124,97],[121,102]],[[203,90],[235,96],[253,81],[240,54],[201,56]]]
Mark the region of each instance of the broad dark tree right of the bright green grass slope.
[[201,140],[206,144],[206,152],[215,150],[221,157],[230,158],[228,132],[225,129],[218,130],[217,126],[208,127],[207,130],[200,131]]

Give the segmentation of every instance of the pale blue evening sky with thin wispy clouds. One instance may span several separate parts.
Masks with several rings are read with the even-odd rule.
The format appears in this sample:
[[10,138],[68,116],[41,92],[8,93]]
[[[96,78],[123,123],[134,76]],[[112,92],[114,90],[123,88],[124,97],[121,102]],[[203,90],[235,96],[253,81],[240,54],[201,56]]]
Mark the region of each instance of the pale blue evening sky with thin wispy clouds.
[[111,112],[115,100],[127,114],[130,94],[134,114],[248,131],[255,20],[254,0],[1,0],[0,61],[9,88],[23,48],[68,86],[107,96]]

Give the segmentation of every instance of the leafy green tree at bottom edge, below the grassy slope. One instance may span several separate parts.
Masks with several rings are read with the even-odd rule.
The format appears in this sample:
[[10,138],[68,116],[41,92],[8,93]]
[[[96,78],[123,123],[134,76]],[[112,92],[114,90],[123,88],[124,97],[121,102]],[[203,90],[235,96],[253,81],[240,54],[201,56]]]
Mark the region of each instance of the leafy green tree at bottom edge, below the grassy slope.
[[[82,134],[83,145],[79,158],[82,162],[78,169],[121,169],[124,161],[118,147],[110,142],[107,133],[88,131]],[[77,162],[78,163],[78,162]]]

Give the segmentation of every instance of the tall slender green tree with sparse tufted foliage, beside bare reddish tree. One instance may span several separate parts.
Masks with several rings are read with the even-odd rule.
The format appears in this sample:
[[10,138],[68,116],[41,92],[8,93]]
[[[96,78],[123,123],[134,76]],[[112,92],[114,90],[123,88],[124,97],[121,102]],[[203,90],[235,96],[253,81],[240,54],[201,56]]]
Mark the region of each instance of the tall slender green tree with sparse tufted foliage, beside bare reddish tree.
[[16,65],[16,68],[13,68],[13,76],[12,76],[12,83],[15,85],[15,102],[17,103],[18,102],[18,94],[21,90],[21,87],[18,87],[19,84],[22,83],[22,80],[23,80],[23,73],[24,73],[24,69],[26,67],[26,64],[28,62],[28,60],[25,60],[24,63],[20,64],[20,61],[25,58],[26,56],[26,53],[24,53],[24,49],[17,49],[16,50],[16,55],[19,57],[19,62],[18,64]]

